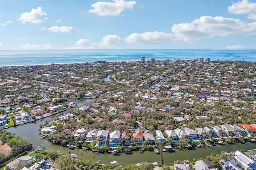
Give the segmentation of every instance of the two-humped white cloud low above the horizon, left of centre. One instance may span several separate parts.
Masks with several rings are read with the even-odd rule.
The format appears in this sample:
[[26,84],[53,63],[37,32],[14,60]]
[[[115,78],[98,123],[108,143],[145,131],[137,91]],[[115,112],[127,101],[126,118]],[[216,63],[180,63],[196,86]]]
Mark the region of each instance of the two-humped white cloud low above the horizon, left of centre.
[[67,47],[66,49],[116,49],[120,48],[121,38],[117,35],[107,35],[102,37],[98,43],[92,43],[88,39],[80,39],[76,42],[75,47]]

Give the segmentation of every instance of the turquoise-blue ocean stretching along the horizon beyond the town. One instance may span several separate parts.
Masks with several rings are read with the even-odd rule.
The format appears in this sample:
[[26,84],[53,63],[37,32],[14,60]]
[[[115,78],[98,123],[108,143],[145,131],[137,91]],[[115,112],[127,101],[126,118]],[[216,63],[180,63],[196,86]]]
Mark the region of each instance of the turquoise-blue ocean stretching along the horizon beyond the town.
[[0,66],[83,63],[94,61],[197,59],[256,62],[256,50],[216,49],[89,49],[89,50],[0,50]]

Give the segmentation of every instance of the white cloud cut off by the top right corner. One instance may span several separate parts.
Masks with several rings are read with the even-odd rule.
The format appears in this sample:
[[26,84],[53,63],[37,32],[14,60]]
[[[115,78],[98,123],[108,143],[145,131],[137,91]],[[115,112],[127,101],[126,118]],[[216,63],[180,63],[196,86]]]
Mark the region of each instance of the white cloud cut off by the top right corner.
[[232,14],[249,14],[248,19],[256,20],[256,3],[243,0],[239,2],[232,2],[231,6],[228,6],[228,12]]

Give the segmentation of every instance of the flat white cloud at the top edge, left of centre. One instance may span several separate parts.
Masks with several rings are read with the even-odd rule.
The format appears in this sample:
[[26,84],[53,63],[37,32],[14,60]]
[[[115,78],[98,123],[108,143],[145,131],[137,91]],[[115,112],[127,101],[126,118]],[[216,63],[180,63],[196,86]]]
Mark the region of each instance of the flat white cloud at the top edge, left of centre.
[[136,1],[113,0],[114,2],[96,2],[88,12],[99,16],[119,16],[125,9],[132,9]]

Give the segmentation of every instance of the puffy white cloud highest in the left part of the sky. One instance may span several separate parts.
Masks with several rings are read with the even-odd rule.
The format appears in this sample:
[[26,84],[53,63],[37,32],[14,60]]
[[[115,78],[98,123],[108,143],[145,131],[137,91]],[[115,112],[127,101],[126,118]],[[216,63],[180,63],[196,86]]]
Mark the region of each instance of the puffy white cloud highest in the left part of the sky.
[[18,20],[22,21],[23,24],[26,22],[31,22],[34,24],[40,24],[44,22],[44,20],[47,20],[47,13],[42,11],[41,7],[38,7],[36,9],[32,8],[31,12],[24,12],[20,15],[20,18]]

